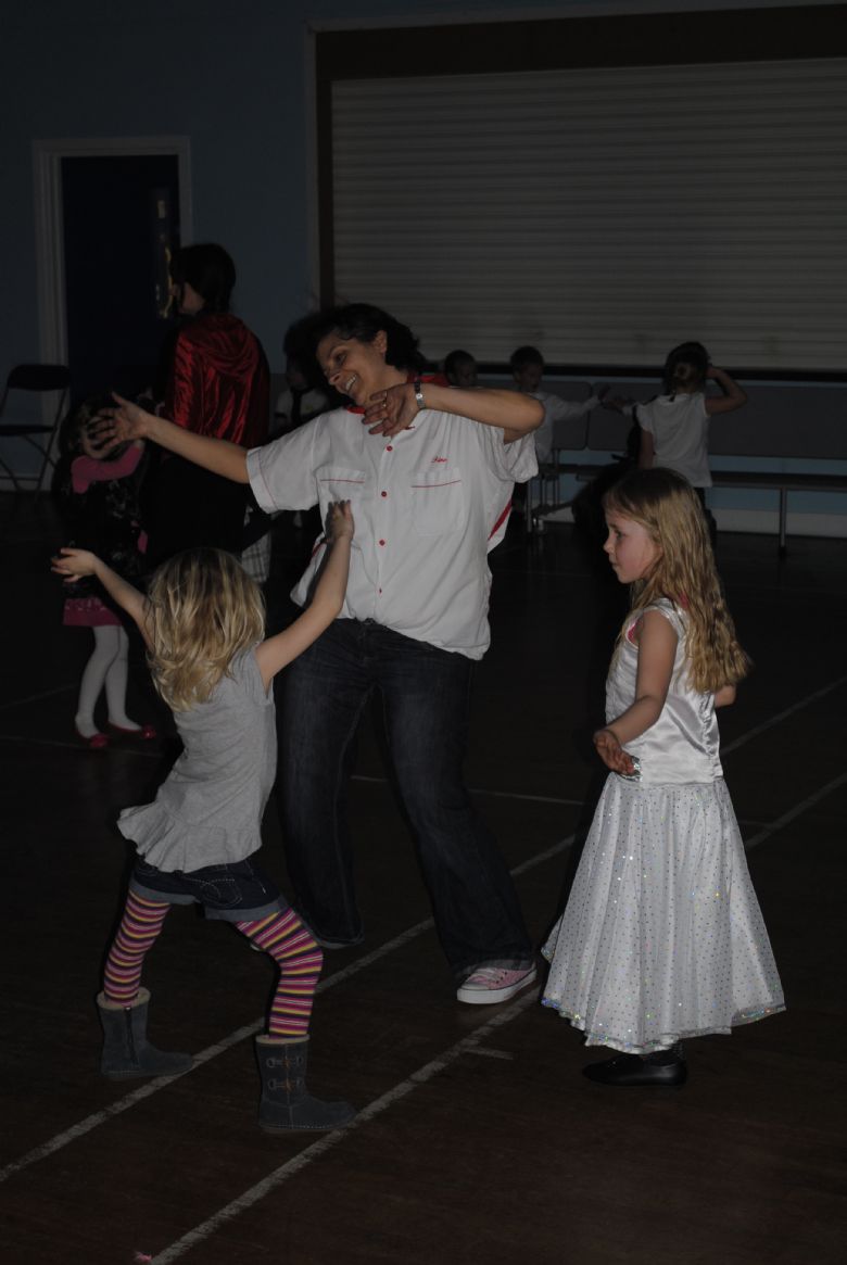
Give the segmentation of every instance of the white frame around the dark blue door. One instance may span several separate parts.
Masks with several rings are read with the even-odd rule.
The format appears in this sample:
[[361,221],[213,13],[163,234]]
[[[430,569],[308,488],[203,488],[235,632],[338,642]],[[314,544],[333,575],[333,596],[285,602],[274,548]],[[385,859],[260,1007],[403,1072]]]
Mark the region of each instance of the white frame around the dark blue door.
[[[80,137],[33,142],[35,180],[35,273],[40,358],[67,364],[68,331],[64,306],[63,158],[177,158],[180,240],[191,240],[191,148],[188,137]],[[47,402],[47,401],[46,401]]]

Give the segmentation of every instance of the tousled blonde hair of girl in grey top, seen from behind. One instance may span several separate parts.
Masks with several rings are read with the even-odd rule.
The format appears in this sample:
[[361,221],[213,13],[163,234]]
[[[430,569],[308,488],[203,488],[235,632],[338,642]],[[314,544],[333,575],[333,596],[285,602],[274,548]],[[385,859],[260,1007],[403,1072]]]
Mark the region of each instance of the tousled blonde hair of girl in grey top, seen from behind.
[[206,702],[233,659],[264,635],[255,581],[222,549],[187,549],[162,563],[149,587],[148,663],[173,711]]

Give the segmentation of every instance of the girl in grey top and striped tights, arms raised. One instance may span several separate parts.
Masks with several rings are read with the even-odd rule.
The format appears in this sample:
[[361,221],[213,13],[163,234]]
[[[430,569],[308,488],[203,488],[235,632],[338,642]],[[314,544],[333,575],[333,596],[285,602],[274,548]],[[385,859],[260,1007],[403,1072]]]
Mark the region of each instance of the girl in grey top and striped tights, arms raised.
[[279,968],[267,1031],[257,1037],[259,1123],[271,1131],[338,1128],[354,1116],[348,1103],[320,1102],[306,1090],[308,1020],[322,955],[253,861],[277,764],[272,682],[341,610],[351,538],[349,503],[330,506],[326,560],[312,600],[267,640],[258,586],[219,549],[191,549],[163,563],[148,597],[86,550],[62,549],[53,559],[53,571],[70,582],[95,576],[135,620],[183,743],[153,803],[120,815],[119,827],[138,856],[97,997],[101,1070],[129,1078],[191,1068],[188,1055],[148,1042],[149,993],[140,977],[171,906],[200,903],[206,917],[234,923]]

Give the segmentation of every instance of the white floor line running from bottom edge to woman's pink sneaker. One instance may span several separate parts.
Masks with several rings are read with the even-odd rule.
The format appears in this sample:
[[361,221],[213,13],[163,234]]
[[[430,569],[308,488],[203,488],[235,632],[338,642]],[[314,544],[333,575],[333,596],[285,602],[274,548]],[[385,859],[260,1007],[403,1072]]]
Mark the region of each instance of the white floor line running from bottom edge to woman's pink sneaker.
[[421,1085],[432,1080],[440,1071],[449,1068],[451,1063],[455,1063],[456,1059],[460,1059],[464,1054],[475,1051],[480,1041],[484,1041],[492,1032],[496,1032],[497,1028],[503,1027],[506,1023],[511,1023],[512,1020],[517,1018],[525,1009],[533,1004],[537,1004],[535,989],[526,997],[522,997],[518,1002],[513,1002],[507,1009],[501,1011],[491,1018],[488,1023],[483,1023],[470,1036],[463,1037],[461,1041],[450,1046],[450,1049],[437,1055],[437,1058],[423,1064],[422,1068],[413,1071],[406,1080],[398,1082],[398,1084],[392,1085],[392,1088],[384,1094],[381,1094],[379,1098],[374,1098],[372,1103],[368,1103],[368,1106],[359,1112],[353,1123],[348,1125],[346,1128],[336,1130],[334,1133],[327,1133],[317,1142],[312,1142],[311,1146],[307,1146],[305,1151],[300,1152],[300,1155],[295,1155],[293,1159],[281,1164],[278,1169],[268,1174],[267,1178],[263,1178],[262,1182],[250,1187],[249,1190],[240,1194],[238,1199],[233,1199],[231,1203],[220,1208],[216,1213],[209,1217],[207,1221],[204,1221],[200,1226],[195,1226],[195,1228],[190,1230],[187,1235],[182,1236],[182,1238],[177,1238],[177,1241],[171,1243],[169,1247],[163,1249],[163,1251],[153,1256],[152,1265],[169,1265],[171,1261],[178,1260],[178,1257],[183,1256],[190,1249],[206,1242],[206,1240],[211,1238],[211,1236],[220,1230],[221,1226],[225,1226],[228,1221],[233,1221],[243,1212],[247,1212],[248,1208],[259,1203],[272,1190],[277,1190],[289,1178],[301,1173],[310,1164],[314,1164],[315,1160],[319,1160],[322,1155],[326,1155],[327,1151],[331,1151],[334,1147],[344,1142],[345,1138],[350,1137],[358,1128],[362,1128],[363,1125],[368,1125],[377,1116],[382,1116],[383,1112],[394,1107]]

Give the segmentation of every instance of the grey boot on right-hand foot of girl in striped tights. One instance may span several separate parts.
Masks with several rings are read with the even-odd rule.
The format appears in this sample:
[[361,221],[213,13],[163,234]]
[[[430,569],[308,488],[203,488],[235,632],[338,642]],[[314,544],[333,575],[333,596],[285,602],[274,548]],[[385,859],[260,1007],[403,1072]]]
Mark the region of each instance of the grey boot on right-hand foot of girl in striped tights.
[[343,1128],[355,1116],[350,1103],[322,1103],[306,1089],[307,1039],[284,1041],[258,1036],[255,1056],[262,1077],[259,1125],[268,1132]]

